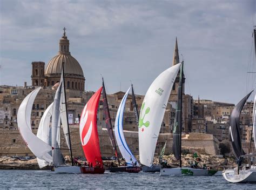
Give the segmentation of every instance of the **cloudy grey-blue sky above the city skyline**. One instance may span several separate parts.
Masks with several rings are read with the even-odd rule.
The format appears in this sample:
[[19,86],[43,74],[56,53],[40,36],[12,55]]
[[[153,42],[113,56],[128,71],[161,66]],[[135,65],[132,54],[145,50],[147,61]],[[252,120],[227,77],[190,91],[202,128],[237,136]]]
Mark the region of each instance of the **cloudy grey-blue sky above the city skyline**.
[[[131,82],[145,94],[172,65],[176,37],[185,93],[237,104],[255,85],[256,3],[245,1],[0,1],[0,85],[31,85],[31,62],[57,55],[65,27],[85,90]],[[252,46],[253,45],[253,46]]]

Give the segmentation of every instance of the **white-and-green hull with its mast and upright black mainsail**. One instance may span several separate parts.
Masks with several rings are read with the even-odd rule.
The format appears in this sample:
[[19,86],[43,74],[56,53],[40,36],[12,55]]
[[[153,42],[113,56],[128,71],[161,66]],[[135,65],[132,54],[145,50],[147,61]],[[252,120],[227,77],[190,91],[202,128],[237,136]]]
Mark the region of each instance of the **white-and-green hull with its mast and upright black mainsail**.
[[181,133],[182,133],[182,94],[183,94],[183,64],[181,63],[179,72],[178,101],[176,105],[176,116],[173,126],[173,144],[172,150],[174,156],[179,160],[179,167],[161,168],[160,175],[214,175],[217,170],[182,167],[181,163]]

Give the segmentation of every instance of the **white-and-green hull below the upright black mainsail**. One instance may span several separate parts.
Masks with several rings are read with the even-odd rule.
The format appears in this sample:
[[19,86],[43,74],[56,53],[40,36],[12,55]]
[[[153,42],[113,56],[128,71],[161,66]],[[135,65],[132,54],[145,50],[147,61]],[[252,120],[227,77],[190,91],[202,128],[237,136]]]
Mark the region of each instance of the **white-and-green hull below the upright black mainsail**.
[[199,169],[191,167],[176,167],[176,168],[162,168],[160,175],[193,175],[193,176],[207,176],[214,175],[217,171],[212,169]]

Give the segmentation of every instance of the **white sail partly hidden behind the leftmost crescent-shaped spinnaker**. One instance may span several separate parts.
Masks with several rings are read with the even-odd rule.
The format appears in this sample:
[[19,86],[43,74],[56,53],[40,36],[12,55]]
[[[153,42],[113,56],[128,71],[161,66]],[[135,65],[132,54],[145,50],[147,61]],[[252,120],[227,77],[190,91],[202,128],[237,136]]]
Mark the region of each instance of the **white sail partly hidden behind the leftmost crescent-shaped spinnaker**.
[[[50,106],[48,106],[48,108],[45,110],[37,130],[37,137],[43,140],[44,142],[46,142],[48,145],[50,145],[50,130],[51,130],[50,120],[51,120],[51,113],[52,113],[52,105],[53,103],[51,103]],[[45,161],[39,158],[37,158],[37,163],[40,168],[43,168],[49,165],[48,161]]]

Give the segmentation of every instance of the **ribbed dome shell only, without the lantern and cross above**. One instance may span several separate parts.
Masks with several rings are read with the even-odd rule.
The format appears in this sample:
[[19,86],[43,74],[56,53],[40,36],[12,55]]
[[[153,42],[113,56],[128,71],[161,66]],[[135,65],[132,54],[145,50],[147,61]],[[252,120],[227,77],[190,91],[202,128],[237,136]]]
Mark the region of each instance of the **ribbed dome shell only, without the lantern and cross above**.
[[64,72],[67,74],[75,74],[84,77],[82,67],[78,61],[70,54],[58,54],[53,57],[45,69],[45,75],[62,73],[62,63],[64,64]]

